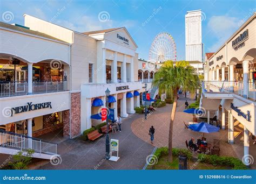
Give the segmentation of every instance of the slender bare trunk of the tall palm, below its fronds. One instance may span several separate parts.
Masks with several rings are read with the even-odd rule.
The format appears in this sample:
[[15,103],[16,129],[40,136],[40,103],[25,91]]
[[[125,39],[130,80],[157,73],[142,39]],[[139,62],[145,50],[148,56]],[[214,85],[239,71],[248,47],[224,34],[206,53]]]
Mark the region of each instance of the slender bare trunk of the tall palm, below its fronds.
[[172,162],[172,160],[173,160],[173,158],[172,158],[172,130],[173,130],[173,122],[174,122],[175,112],[176,112],[176,108],[177,108],[177,101],[178,101],[177,93],[178,93],[178,91],[174,90],[171,121],[170,121],[170,126],[169,126],[169,155],[168,155],[169,162]]

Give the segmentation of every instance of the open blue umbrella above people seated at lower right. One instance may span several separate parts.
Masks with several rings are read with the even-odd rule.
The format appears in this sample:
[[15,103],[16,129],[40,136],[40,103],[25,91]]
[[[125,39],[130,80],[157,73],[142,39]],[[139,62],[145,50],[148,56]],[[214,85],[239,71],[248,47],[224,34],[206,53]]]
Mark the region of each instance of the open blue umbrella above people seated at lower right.
[[203,133],[218,132],[220,130],[220,128],[218,128],[217,126],[213,126],[205,122],[189,125],[188,128],[193,131]]

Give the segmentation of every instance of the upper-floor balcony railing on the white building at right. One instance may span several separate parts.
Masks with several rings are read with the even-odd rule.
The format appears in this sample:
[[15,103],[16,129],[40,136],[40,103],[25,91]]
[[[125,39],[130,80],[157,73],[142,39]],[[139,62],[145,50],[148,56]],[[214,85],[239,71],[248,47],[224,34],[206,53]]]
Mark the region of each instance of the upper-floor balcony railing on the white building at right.
[[[248,82],[248,88],[244,88],[242,81],[203,81],[203,89],[207,92],[234,93],[239,96],[246,95],[256,101],[256,89],[254,82]],[[247,91],[244,91],[247,90]]]

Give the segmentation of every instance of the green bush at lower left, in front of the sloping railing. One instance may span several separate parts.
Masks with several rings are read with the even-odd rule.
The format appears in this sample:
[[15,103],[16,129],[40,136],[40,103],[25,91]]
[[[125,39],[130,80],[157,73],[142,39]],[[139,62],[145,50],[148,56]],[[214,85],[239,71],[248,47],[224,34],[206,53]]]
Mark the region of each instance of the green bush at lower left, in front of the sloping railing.
[[9,165],[14,169],[26,169],[32,160],[34,152],[32,149],[17,152],[13,157],[14,160],[9,162]]

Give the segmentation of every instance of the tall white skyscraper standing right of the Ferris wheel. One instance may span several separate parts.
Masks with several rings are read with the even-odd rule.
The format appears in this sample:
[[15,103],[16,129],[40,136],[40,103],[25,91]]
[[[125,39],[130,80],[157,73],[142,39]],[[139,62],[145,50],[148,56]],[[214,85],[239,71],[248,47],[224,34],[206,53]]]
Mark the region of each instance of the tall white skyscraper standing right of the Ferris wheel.
[[204,61],[204,44],[202,43],[201,10],[187,11],[186,61]]

